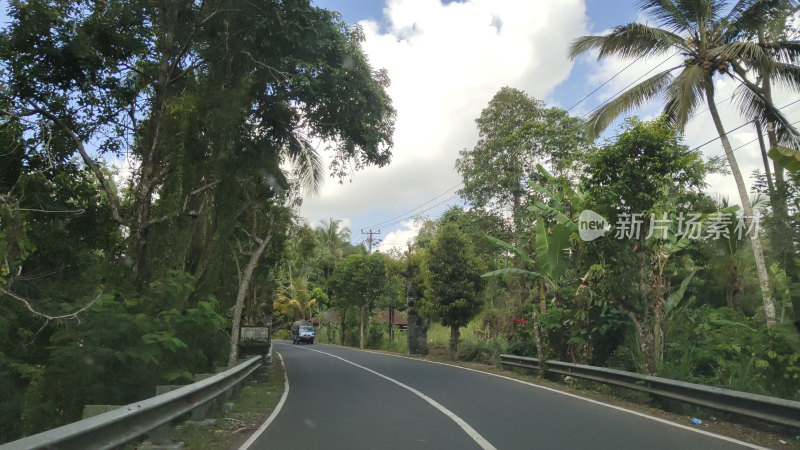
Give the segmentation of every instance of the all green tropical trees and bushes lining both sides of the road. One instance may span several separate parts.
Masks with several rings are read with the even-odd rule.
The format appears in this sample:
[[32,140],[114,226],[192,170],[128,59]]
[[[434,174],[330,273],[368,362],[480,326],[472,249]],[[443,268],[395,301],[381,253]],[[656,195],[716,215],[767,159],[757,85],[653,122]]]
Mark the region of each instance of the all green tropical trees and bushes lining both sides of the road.
[[[370,251],[298,212],[323,152],[339,180],[391,161],[389,78],[358,26],[307,0],[12,1],[0,441],[192,382],[237,362],[242,326],[280,339],[297,320],[317,342],[421,339],[452,359],[539,357],[543,376],[561,360],[800,400],[800,139],[774,103],[800,89],[794,2],[640,4],[652,26],[570,56],[674,67],[585,118],[500,88],[454,162],[460,205]],[[723,78],[764,138],[749,191]],[[662,114],[625,116],[649,100]],[[685,143],[706,107],[724,160]],[[739,197],[711,195],[728,173]]]

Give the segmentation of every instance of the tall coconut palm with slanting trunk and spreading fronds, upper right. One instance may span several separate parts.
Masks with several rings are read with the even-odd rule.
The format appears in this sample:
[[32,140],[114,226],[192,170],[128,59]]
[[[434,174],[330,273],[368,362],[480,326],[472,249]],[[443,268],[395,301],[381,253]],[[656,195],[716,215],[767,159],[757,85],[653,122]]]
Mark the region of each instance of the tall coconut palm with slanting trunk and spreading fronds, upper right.
[[[740,0],[732,6],[723,0],[642,0],[640,9],[649,14],[657,26],[630,23],[614,28],[601,36],[584,36],[575,40],[570,57],[598,50],[598,58],[610,55],[644,58],[669,51],[683,56],[683,61],[627,90],[619,97],[592,113],[587,127],[599,135],[617,117],[648,100],[663,97],[664,114],[681,130],[694,111],[705,101],[717,129],[728,165],[736,181],[742,209],[748,217],[753,207],[747,193],[739,163],[720,119],[715,103],[715,76],[731,77],[741,83],[736,91],[740,110],[748,118],[757,116],[778,124],[785,139],[797,140],[786,117],[745,82],[737,72],[741,68],[777,67],[800,54],[797,41],[759,44],[752,39],[760,29],[772,28],[795,6],[793,0]],[[726,12],[727,11],[727,12]],[[769,48],[770,51],[767,51]],[[798,70],[781,66],[783,78],[800,80]],[[795,81],[795,86],[800,83]],[[769,286],[761,240],[751,236],[759,284],[767,324],[775,323],[775,305]]]

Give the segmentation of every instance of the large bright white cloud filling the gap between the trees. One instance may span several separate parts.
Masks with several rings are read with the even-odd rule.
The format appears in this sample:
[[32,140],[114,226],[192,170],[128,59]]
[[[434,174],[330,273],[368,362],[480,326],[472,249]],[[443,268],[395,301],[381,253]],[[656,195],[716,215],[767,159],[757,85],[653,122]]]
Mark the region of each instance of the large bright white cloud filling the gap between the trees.
[[[302,213],[314,223],[377,209],[399,214],[460,181],[458,151],[477,139],[474,120],[509,85],[544,98],[567,78],[569,43],[587,33],[582,0],[389,0],[385,28],[361,22],[364,50],[386,68],[397,109],[392,163],[328,180]],[[380,220],[379,218],[378,220]]]

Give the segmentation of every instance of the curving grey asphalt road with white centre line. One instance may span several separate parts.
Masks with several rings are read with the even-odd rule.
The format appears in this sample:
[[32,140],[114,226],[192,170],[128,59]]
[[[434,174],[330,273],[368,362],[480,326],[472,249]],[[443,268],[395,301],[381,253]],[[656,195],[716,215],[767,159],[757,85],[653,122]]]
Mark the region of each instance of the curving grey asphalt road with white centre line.
[[530,384],[328,345],[275,343],[289,394],[250,449],[728,449],[740,443]]

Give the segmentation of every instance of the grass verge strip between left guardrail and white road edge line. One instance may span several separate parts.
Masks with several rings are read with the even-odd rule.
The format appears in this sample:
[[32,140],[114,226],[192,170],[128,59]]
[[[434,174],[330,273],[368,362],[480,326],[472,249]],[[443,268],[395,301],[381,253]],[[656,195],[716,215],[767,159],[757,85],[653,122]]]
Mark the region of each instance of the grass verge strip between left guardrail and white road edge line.
[[184,448],[202,450],[236,449],[264,423],[278,404],[284,389],[284,371],[280,358],[267,368],[267,381],[242,389],[232,400],[233,408],[221,418],[202,422],[183,422],[170,433]]

